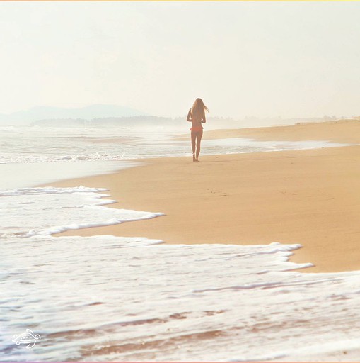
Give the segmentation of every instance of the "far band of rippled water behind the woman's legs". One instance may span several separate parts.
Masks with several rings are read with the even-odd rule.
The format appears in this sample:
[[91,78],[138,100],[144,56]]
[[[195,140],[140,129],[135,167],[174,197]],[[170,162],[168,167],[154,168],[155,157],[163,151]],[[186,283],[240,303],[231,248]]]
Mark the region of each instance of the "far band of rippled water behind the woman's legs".
[[[0,127],[0,164],[28,162],[119,161],[191,155],[188,141],[171,136],[187,129]],[[339,146],[326,141],[204,140],[202,155]]]

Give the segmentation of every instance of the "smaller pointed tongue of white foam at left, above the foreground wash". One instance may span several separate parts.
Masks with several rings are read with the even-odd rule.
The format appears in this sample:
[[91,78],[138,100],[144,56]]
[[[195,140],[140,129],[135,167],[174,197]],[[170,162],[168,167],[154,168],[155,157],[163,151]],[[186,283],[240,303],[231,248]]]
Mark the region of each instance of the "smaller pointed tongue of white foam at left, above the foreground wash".
[[106,189],[23,188],[0,189],[0,238],[50,235],[79,228],[113,225],[162,216],[163,213],[104,208]]

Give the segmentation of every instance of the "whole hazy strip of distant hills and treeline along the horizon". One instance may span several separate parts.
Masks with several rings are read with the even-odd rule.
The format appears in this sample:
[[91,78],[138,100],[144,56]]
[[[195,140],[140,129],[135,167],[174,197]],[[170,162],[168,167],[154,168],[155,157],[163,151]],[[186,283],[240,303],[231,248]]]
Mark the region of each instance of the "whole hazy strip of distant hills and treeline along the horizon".
[[[342,117],[344,118],[344,117]],[[321,122],[336,120],[336,116],[323,116],[322,118],[257,118],[248,116],[240,119],[208,116],[211,128],[246,128],[269,125],[294,125],[294,123]],[[182,125],[186,115],[177,118],[151,116],[134,108],[93,104],[81,108],[61,108],[37,106],[14,113],[0,113],[0,125],[38,125],[50,127],[158,127],[175,128]],[[208,125],[207,125],[208,128]]]

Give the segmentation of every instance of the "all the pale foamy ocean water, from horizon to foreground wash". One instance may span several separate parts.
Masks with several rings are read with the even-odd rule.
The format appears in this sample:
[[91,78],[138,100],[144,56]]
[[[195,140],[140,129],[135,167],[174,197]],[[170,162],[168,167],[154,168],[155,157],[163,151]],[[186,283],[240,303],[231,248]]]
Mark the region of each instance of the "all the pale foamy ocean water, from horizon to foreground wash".
[[[161,218],[162,211],[107,208],[113,201],[102,199],[108,191],[101,186],[35,185],[131,167],[144,157],[187,155],[188,143],[171,136],[1,128],[1,361],[359,359],[360,272],[302,274],[311,261],[288,260],[301,248],[296,241],[166,245],[52,236]],[[330,146],[207,140],[203,152]],[[27,329],[40,338],[17,345]]]

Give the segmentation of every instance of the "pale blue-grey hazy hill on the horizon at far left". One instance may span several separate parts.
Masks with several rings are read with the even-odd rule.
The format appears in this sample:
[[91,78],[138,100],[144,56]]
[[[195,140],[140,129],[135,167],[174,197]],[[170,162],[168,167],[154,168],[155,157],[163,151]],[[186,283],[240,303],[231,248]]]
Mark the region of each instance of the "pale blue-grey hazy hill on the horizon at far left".
[[52,119],[82,118],[91,120],[93,118],[131,116],[146,116],[146,113],[134,108],[104,104],[94,104],[81,108],[37,106],[7,115],[0,113],[0,125],[29,125],[34,121]]

